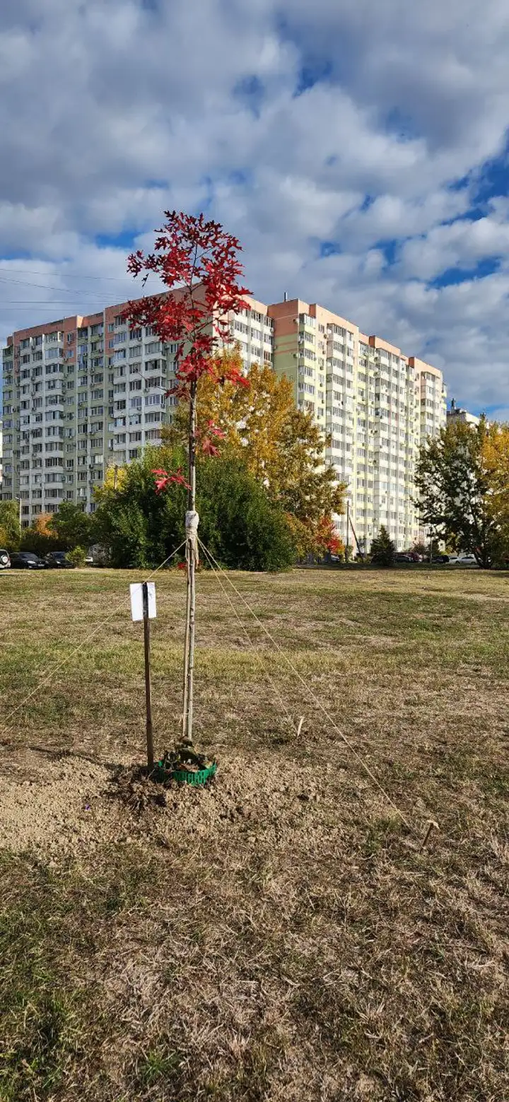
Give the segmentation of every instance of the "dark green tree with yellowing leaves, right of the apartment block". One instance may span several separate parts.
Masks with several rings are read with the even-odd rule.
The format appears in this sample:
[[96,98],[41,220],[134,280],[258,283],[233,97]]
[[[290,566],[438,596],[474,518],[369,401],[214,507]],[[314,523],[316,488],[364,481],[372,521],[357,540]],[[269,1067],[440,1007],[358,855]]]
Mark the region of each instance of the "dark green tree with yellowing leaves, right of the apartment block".
[[423,445],[415,472],[421,522],[454,550],[475,554],[480,566],[491,565],[500,539],[496,454],[499,460],[485,418],[478,425],[453,422]]

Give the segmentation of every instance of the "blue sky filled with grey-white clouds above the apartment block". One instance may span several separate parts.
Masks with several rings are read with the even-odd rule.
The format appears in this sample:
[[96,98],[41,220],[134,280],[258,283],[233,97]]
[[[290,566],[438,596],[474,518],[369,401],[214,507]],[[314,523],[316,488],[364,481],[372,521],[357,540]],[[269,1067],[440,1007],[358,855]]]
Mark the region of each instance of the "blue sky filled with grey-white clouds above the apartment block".
[[507,0],[2,0],[0,337],[132,294],[165,208],[509,418]]

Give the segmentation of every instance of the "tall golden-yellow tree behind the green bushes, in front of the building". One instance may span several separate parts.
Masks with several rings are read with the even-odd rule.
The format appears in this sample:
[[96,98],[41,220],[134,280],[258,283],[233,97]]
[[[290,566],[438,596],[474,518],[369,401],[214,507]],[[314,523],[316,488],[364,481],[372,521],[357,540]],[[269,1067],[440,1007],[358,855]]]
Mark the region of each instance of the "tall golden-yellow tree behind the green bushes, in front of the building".
[[[216,355],[216,375],[225,368],[241,371],[238,349]],[[218,388],[210,376],[201,379],[198,434],[206,435],[209,424],[224,433],[221,450],[238,456],[289,515],[299,558],[342,550],[331,518],[344,511],[345,486],[325,461],[322,431],[311,414],[296,409],[288,378],[259,364],[251,365],[246,378],[249,387],[242,389],[227,380]],[[174,425],[163,435],[182,441],[185,419],[185,409],[177,409]]]

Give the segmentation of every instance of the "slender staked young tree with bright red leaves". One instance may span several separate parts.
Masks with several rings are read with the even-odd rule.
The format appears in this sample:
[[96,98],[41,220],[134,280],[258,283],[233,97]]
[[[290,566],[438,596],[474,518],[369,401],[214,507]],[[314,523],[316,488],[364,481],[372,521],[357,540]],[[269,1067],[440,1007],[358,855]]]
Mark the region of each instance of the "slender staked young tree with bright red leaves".
[[187,407],[187,476],[182,468],[155,469],[156,490],[163,493],[172,483],[187,487],[186,563],[187,602],[184,642],[183,742],[193,743],[194,640],[196,616],[195,569],[198,561],[196,512],[196,451],[214,454],[221,435],[212,423],[197,430],[196,393],[198,382],[208,376],[215,387],[226,381],[247,386],[234,365],[221,375],[215,352],[231,342],[228,312],[246,307],[247,288],[239,283],[242,267],[238,260],[240,244],[216,222],[178,213],[164,213],[165,223],[156,233],[154,251],[129,257],[128,271],[159,277],[166,292],[130,302],[124,316],[131,328],[150,326],[162,344],[176,346],[173,393]]

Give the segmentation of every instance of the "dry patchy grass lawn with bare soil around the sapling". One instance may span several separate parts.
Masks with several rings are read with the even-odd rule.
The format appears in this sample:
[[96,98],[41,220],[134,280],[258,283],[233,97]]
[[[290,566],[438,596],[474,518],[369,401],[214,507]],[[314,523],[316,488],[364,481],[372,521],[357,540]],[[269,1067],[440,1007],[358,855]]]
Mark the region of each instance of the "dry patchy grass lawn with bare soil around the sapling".
[[[138,575],[0,575],[1,1102],[507,1102],[508,575],[230,576],[260,624],[199,575],[217,781],[134,811]],[[185,579],[156,591],[162,750]]]

